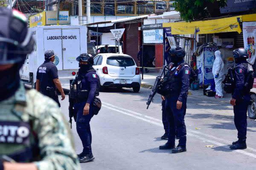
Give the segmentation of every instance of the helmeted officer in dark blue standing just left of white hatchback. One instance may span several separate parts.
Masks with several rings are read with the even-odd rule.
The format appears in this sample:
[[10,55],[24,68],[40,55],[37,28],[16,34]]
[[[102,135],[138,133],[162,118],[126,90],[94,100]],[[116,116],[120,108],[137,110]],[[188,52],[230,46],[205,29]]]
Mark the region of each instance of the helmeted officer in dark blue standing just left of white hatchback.
[[79,61],[79,76],[81,79],[81,90],[87,90],[87,97],[74,105],[77,113],[76,130],[83,144],[83,151],[78,154],[81,163],[93,161],[91,148],[92,134],[90,131],[90,120],[93,117],[92,105],[95,96],[99,96],[99,77],[93,69],[93,57],[81,54],[76,58]]

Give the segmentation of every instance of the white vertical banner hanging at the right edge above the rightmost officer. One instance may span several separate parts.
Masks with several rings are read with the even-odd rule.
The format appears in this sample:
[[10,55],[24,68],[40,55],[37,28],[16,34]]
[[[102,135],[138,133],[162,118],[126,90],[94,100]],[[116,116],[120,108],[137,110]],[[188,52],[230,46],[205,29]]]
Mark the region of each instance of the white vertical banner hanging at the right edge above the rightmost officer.
[[256,58],[256,22],[243,22],[244,48],[249,54],[248,62],[253,65]]

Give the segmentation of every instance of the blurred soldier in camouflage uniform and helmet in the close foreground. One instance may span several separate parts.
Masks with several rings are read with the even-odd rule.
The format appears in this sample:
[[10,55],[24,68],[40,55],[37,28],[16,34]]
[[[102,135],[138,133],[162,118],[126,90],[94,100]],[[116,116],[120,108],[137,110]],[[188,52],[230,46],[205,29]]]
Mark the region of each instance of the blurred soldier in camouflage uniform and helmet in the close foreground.
[[34,40],[26,17],[0,7],[0,170],[80,170],[56,102],[20,82]]

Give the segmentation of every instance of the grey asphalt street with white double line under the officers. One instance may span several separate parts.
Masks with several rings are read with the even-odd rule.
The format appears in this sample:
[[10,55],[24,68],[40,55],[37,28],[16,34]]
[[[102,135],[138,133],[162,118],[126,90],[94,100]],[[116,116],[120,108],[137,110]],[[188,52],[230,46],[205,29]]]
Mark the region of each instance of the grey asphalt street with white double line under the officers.
[[[100,93],[102,109],[90,123],[95,160],[81,164],[82,170],[255,170],[256,122],[248,119],[247,149],[230,150],[236,141],[233,108],[227,100],[189,96],[185,122],[187,152],[159,150],[163,135],[161,99],[146,109],[150,90],[108,89]],[[68,119],[68,98],[61,101]],[[76,152],[82,144],[73,123]],[[176,140],[177,145],[177,140]],[[212,147],[206,147],[213,145]]]

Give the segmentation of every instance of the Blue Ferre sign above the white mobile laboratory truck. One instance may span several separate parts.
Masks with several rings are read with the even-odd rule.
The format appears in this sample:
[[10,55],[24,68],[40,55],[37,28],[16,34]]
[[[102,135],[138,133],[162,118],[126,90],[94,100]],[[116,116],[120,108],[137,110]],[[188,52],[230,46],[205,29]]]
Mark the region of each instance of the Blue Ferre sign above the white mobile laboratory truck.
[[[69,24],[69,11],[60,11],[59,24]],[[46,11],[46,25],[57,24],[57,11]]]

